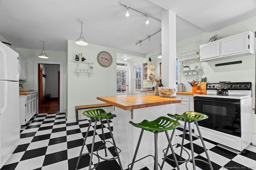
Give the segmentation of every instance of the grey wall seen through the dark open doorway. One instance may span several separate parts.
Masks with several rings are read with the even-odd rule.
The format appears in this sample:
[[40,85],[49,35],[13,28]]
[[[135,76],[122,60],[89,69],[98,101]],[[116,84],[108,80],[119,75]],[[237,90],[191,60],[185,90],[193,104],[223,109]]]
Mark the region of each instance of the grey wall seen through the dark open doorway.
[[46,94],[51,94],[51,98],[58,98],[58,72],[60,71],[60,65],[56,64],[44,64],[45,65],[45,88]]

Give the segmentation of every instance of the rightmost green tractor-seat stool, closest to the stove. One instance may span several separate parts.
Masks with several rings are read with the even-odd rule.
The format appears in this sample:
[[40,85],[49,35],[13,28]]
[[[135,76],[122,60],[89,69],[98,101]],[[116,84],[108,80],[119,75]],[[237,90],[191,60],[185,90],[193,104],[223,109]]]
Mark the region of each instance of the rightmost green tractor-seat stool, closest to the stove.
[[[195,162],[195,160],[199,160],[199,161],[202,161],[202,162],[204,162],[204,163],[206,163],[206,164],[209,164],[210,169],[213,170],[212,162],[210,161],[209,155],[208,155],[208,153],[207,153],[207,149],[206,149],[206,147],[205,147],[205,145],[204,145],[204,140],[203,140],[203,138],[202,138],[202,135],[201,135],[200,129],[199,129],[199,127],[198,127],[198,123],[197,123],[197,121],[201,121],[201,120],[207,119],[208,116],[205,115],[205,114],[203,114],[203,113],[198,113],[198,112],[194,112],[194,111],[186,111],[186,112],[184,112],[182,115],[178,115],[178,114],[175,114],[175,115],[167,114],[167,115],[170,116],[170,117],[172,117],[172,118],[174,118],[174,119],[176,119],[177,121],[180,120],[180,121],[184,121],[184,122],[185,122],[185,123],[184,123],[184,129],[183,129],[183,135],[182,135],[182,144],[181,144],[181,150],[180,150],[180,158],[179,158],[179,160],[181,160],[181,157],[182,157],[182,150],[184,150],[184,149],[183,149],[183,144],[184,144],[184,138],[185,138],[185,132],[186,132],[186,124],[188,123],[188,130],[189,130],[190,148],[191,148],[192,159],[190,159],[190,157],[189,157],[189,158],[188,158],[187,160],[185,160],[185,161],[178,161],[178,162],[186,162],[186,169],[188,170],[187,164],[188,164],[188,162],[190,162],[190,161],[192,160],[192,163],[193,163],[193,170],[196,170],[196,162]],[[202,145],[203,145],[203,147],[204,147],[204,152],[205,152],[205,154],[206,154],[206,157],[207,157],[208,162],[206,162],[206,161],[204,161],[204,160],[202,160],[202,159],[197,159],[197,158],[194,157],[194,147],[193,147],[193,140],[192,140],[192,129],[191,129],[191,125],[190,125],[190,123],[193,123],[193,122],[196,124],[196,128],[197,128],[197,130],[198,130],[199,137],[200,137],[200,139],[201,139],[201,141],[202,141]],[[172,136],[173,136],[173,135],[174,135],[174,132],[172,133]],[[166,149],[166,152],[165,152],[165,154],[164,154],[164,160],[163,160],[163,162],[165,161],[165,159],[172,160],[172,159],[166,157],[169,147],[170,147],[170,145],[168,145],[168,147],[167,147],[167,149]],[[186,150],[185,150],[185,151],[186,151]],[[187,152],[187,151],[186,151],[186,152]],[[188,153],[188,152],[187,152],[187,153]],[[163,164],[162,164],[162,166],[163,166]],[[162,167],[162,166],[161,166],[161,167]]]

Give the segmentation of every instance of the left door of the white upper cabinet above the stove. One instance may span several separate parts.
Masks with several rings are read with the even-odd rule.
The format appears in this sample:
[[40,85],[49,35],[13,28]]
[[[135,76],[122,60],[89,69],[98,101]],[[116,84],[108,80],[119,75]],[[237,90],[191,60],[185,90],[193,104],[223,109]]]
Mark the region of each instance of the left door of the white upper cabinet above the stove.
[[220,57],[220,41],[200,45],[200,61]]

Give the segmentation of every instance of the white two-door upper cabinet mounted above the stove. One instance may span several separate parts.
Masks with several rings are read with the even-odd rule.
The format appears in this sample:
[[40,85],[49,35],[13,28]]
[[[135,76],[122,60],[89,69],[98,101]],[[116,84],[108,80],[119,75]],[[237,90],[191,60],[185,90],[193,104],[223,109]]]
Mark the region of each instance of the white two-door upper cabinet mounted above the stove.
[[247,31],[200,45],[200,61],[255,54],[254,33]]

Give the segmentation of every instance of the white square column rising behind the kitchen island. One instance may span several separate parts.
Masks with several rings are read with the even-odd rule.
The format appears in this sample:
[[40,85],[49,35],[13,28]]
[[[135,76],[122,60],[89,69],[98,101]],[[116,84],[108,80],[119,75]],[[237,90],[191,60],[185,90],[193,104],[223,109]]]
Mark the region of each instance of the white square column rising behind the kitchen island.
[[162,84],[176,88],[176,13],[162,11]]

